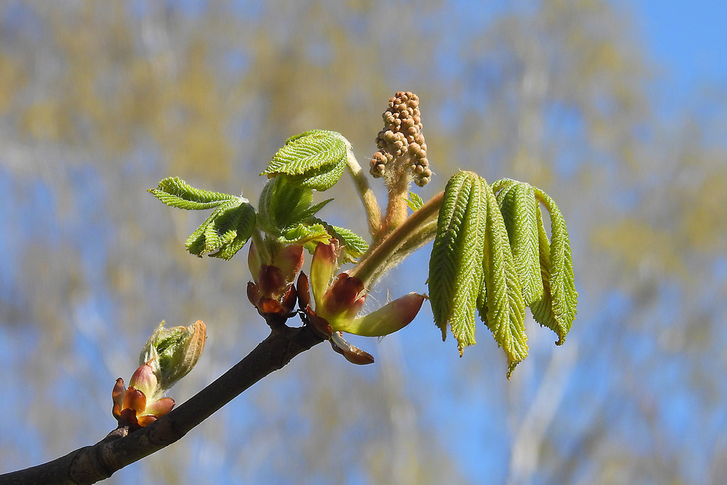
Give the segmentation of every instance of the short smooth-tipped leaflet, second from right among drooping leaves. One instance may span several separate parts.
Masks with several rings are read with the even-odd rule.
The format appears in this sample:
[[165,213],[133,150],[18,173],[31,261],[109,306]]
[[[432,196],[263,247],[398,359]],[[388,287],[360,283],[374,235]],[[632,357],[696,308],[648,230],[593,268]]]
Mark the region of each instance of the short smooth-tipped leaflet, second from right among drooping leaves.
[[543,295],[538,249],[539,203],[535,199],[535,189],[527,183],[509,185],[499,191],[497,203],[505,220],[510,249],[523,286],[523,299],[526,305],[530,305]]

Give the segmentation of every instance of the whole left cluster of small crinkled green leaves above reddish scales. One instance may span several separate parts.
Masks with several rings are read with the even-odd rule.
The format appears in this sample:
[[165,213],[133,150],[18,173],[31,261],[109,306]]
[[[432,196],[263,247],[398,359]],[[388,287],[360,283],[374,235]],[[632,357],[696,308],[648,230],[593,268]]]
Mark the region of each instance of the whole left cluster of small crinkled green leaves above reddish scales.
[[162,180],[150,192],[172,207],[214,208],[186,242],[189,252],[200,257],[209,254],[229,260],[257,227],[281,244],[302,244],[310,252],[318,242],[334,237],[353,259],[366,252],[366,241],[313,217],[333,200],[313,204],[313,190],[325,191],[340,180],[347,155],[348,143],[336,132],[313,130],[289,138],[261,174],[270,180],[260,194],[257,214],[243,197],[202,191],[176,177]]

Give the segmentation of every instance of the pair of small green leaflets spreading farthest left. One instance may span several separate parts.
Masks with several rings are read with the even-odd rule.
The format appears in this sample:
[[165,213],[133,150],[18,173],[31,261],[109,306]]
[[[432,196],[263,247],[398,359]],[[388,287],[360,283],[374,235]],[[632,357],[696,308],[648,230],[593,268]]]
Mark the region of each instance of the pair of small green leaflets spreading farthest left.
[[244,197],[202,191],[184,180],[168,177],[149,190],[164,204],[180,209],[214,211],[185,242],[191,254],[229,260],[245,245],[255,227],[255,210]]

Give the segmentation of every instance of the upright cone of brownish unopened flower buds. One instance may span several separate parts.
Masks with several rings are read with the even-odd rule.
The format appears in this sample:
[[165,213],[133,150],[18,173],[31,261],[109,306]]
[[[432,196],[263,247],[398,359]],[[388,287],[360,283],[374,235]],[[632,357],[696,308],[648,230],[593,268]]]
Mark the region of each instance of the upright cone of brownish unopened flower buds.
[[397,92],[389,100],[383,119],[385,127],[376,137],[379,151],[371,158],[371,175],[388,179],[408,170],[419,187],[427,185],[432,171],[422,135],[419,97],[408,91]]

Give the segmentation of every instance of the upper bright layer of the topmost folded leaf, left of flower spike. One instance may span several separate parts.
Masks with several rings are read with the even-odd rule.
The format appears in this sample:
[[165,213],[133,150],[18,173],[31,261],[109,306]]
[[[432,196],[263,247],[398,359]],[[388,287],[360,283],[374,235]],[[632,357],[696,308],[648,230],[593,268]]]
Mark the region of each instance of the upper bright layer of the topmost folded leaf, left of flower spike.
[[345,161],[346,150],[345,138],[340,133],[313,129],[286,140],[260,175],[305,175]]

